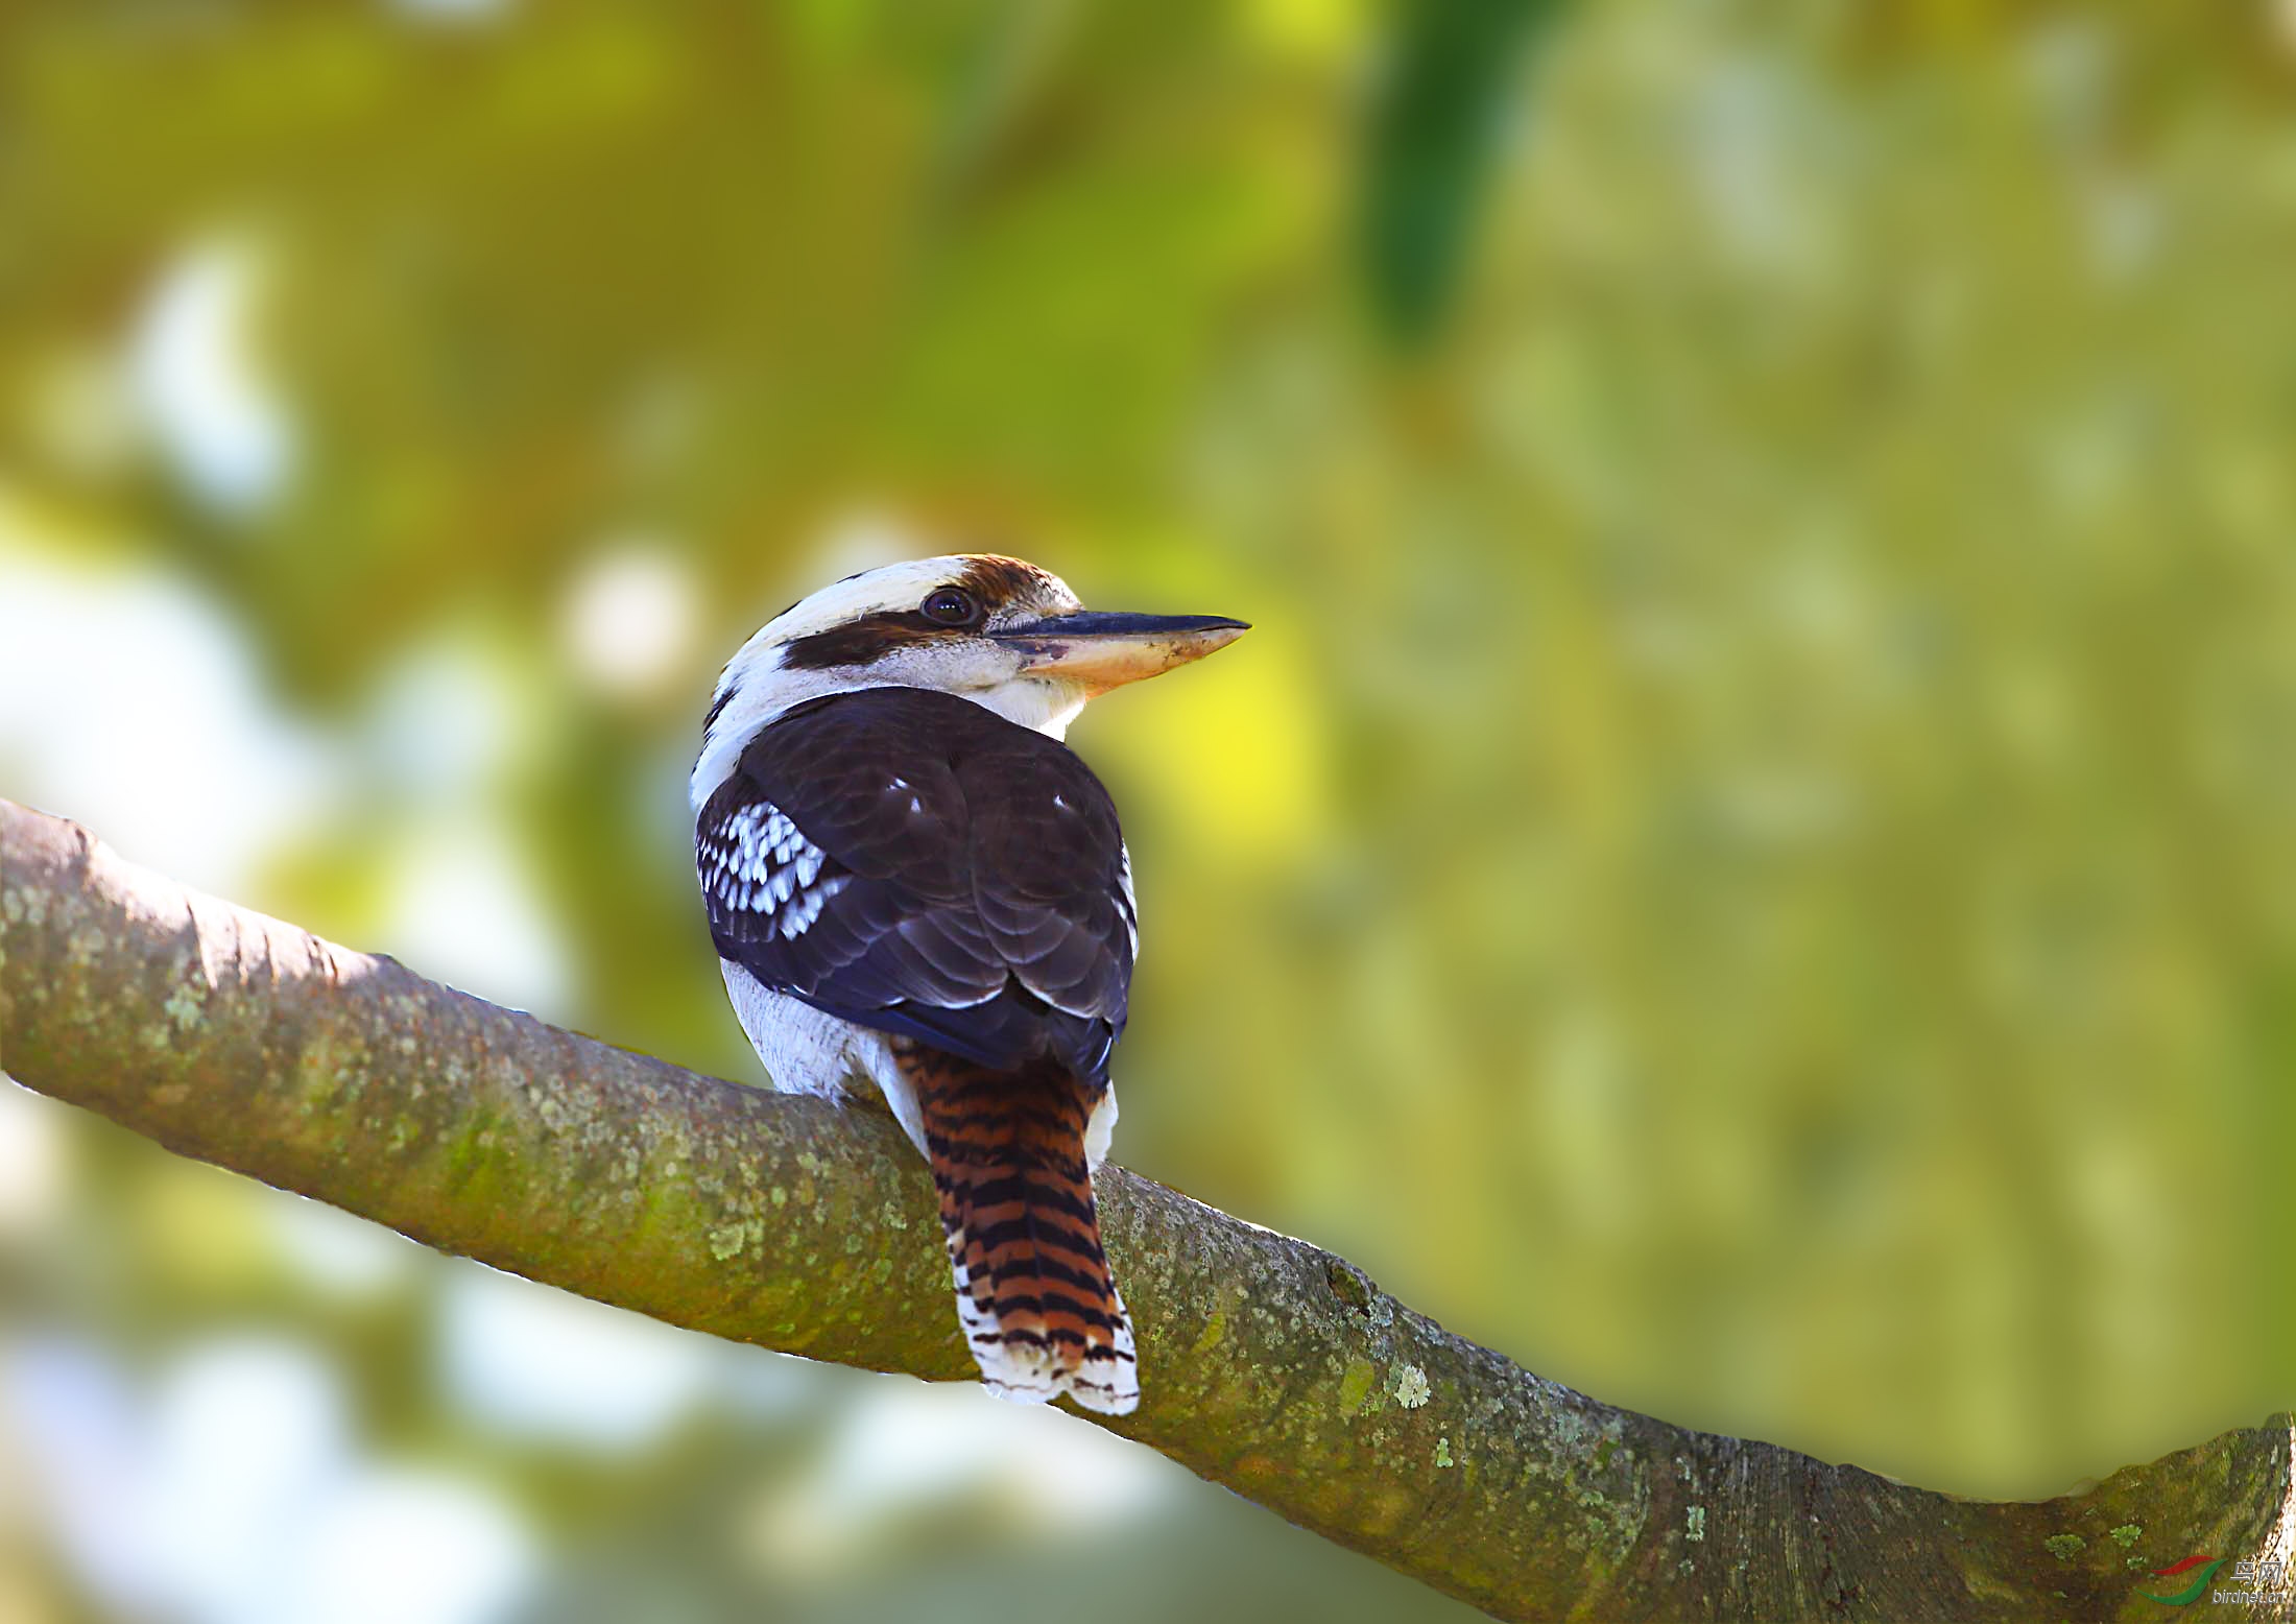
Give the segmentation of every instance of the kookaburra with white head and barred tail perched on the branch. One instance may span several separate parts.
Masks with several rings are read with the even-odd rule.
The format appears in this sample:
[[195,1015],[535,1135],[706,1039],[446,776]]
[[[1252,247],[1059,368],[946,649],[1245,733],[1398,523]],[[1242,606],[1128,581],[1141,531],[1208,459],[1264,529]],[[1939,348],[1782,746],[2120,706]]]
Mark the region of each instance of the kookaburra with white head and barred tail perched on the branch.
[[693,861],[742,1029],[783,1091],[884,1091],[932,1165],[980,1378],[1013,1399],[1139,1403],[1093,1206],[1139,910],[1061,735],[1244,629],[918,558],[769,620],[709,703]]

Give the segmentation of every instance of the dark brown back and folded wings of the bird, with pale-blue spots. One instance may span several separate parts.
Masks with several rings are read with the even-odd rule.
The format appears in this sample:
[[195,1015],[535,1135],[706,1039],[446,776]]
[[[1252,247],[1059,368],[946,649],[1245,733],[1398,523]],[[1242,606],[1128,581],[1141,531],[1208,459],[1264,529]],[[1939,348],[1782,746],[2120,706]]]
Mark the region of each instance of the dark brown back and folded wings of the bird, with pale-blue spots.
[[1116,806],[1061,742],[930,689],[765,726],[703,806],[723,958],[980,1066],[1107,1080],[1137,917]]

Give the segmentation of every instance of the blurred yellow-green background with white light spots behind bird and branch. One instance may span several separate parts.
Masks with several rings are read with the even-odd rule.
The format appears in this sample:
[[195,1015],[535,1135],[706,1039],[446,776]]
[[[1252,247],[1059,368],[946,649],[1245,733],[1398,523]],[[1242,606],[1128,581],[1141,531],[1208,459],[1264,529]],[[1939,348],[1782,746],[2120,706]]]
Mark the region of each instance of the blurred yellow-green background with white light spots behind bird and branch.
[[[893,519],[1258,622],[1072,735],[1127,1165],[1938,1488],[2296,1403],[2296,7],[0,9],[0,792],[753,1077],[684,772]],[[1079,1594],[1463,1615],[0,1093],[7,1624]]]

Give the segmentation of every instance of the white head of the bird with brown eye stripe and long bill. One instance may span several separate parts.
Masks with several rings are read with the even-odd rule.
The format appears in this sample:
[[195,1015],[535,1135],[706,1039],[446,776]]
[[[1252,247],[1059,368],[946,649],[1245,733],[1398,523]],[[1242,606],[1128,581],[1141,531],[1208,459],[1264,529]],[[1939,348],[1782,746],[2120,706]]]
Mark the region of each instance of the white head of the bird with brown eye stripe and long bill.
[[1226,648],[1249,627],[1226,616],[1084,609],[1068,583],[1019,558],[946,554],[850,574],[758,627],[726,662],[693,806],[790,705],[866,687],[923,687],[1061,737],[1095,694]]

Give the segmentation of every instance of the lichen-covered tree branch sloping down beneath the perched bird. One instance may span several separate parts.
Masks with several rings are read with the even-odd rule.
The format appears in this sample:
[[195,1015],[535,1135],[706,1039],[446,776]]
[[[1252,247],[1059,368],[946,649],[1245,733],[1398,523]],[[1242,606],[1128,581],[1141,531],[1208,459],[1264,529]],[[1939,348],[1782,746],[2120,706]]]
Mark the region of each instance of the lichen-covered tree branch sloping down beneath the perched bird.
[[[889,1116],[558,1031],[7,802],[0,859],[18,1082],[673,1325],[971,1369]],[[1146,1371],[1114,1431],[1499,1617],[2135,1619],[2188,1578],[2151,1567],[2296,1562],[2289,1415],[2076,1498],[1956,1500],[1596,1403],[1118,1167],[1100,1199]]]

